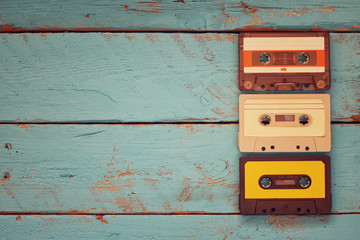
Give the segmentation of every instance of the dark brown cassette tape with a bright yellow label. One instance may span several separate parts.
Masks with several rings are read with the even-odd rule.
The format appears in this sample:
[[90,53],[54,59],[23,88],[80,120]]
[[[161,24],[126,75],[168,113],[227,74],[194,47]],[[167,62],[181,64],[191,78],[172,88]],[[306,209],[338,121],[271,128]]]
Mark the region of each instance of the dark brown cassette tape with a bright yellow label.
[[241,157],[241,214],[329,214],[330,157]]

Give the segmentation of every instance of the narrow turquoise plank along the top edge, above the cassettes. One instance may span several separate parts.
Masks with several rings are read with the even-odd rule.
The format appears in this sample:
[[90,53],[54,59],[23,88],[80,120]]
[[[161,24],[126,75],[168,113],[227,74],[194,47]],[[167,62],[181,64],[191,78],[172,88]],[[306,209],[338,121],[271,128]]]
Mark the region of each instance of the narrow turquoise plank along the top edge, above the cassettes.
[[359,31],[359,7],[357,0],[3,0],[0,29]]

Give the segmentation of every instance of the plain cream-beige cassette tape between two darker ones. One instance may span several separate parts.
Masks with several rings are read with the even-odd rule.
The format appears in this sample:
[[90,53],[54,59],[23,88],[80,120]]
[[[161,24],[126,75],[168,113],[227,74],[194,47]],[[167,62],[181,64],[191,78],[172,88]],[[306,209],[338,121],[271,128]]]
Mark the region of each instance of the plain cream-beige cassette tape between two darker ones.
[[330,95],[240,94],[240,152],[329,152]]

